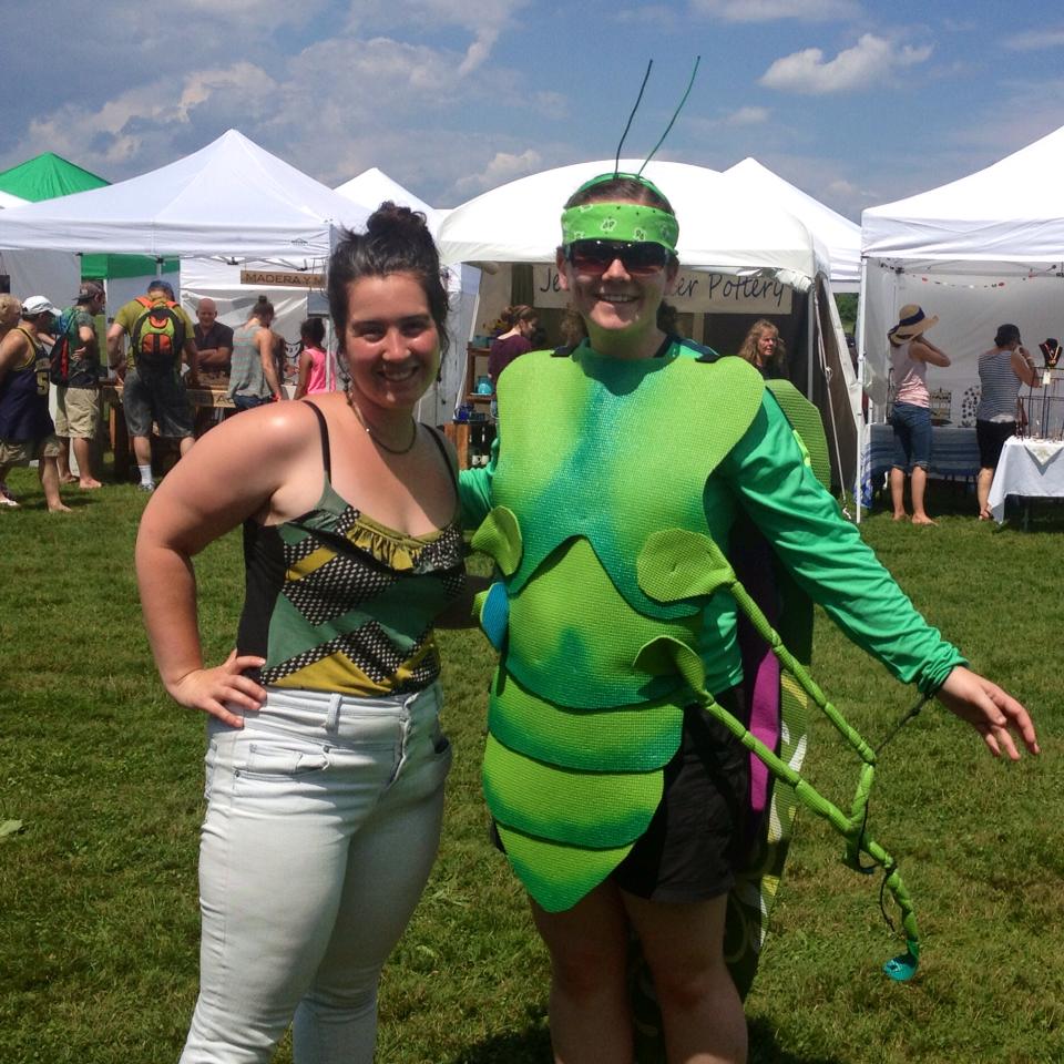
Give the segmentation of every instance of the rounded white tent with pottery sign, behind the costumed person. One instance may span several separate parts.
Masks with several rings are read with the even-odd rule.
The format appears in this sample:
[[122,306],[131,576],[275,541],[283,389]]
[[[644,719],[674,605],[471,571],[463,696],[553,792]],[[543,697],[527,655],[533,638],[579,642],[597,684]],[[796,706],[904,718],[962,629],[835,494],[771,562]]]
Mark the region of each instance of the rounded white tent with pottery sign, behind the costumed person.
[[[641,166],[642,161],[620,162],[622,172]],[[562,204],[584,181],[613,170],[610,160],[532,174],[477,196],[448,214],[438,236],[444,262],[489,267],[477,320],[490,320],[511,301],[509,280],[495,270],[500,263],[540,267],[544,277],[535,282],[536,306],[559,305],[548,275],[554,263]],[[706,304],[695,298],[697,288],[697,299],[709,293],[717,297],[714,320],[729,311],[744,313],[747,306],[788,318],[801,315],[805,335],[799,346],[805,371],[797,383],[818,402],[829,434],[835,437],[836,475],[840,483],[851,483],[860,392],[830,294],[823,245],[794,214],[766,203],[764,195],[745,192],[740,183],[716,171],[652,161],[643,173],[676,211],[677,254],[684,269],[702,272],[695,277],[682,274],[669,296],[678,310],[689,306],[704,313]],[[746,298],[751,293],[760,304]],[[774,294],[777,303],[766,310],[765,298]],[[710,326],[709,335],[694,338],[713,345],[713,331]],[[734,344],[733,349],[737,347]]]

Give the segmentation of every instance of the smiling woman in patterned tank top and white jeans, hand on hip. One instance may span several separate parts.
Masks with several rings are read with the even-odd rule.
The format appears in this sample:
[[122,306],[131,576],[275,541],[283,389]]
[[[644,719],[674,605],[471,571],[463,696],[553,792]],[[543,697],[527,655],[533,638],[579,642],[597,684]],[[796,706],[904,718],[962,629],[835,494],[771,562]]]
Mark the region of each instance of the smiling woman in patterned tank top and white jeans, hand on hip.
[[[470,603],[457,459],[415,420],[447,347],[424,215],[381,204],[328,278],[347,392],[219,424],[137,538],[160,675],[208,722],[184,1064],[266,1064],[289,1022],[297,1064],[370,1064],[380,969],[439,842],[451,750],[432,632],[470,623]],[[192,559],[241,524],[244,611],[207,664]]]

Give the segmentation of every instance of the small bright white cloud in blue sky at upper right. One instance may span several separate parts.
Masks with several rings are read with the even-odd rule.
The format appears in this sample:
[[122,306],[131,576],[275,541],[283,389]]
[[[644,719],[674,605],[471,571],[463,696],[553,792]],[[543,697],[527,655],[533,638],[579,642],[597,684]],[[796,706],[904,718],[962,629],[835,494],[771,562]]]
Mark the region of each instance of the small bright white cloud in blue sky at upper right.
[[807,48],[777,59],[759,79],[768,89],[823,95],[831,92],[872,89],[890,71],[925,62],[932,45],[897,45],[874,33],[864,33],[853,48],[825,61],[819,48]]

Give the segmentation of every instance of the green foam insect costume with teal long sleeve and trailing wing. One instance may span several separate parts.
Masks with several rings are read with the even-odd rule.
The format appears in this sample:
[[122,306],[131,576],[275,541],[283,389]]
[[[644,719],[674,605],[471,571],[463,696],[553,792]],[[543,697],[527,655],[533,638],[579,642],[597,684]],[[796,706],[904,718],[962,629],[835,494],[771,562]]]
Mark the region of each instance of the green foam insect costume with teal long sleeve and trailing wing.
[[[743,360],[675,338],[634,361],[586,344],[533,352],[500,379],[499,408],[491,463],[462,474],[466,515],[482,522],[473,543],[502,575],[481,610],[501,652],[483,782],[507,857],[548,911],[579,902],[646,830],[684,706],[712,708],[713,692],[743,679],[737,600],[720,591],[744,590],[717,544],[732,545],[745,514],[796,586],[816,587],[900,679],[933,690],[963,663],[838,513]],[[799,614],[779,623],[808,644]],[[805,698],[823,702],[802,678],[784,674],[784,729],[765,751],[796,777]],[[788,787],[773,791],[729,912],[741,991],[796,805]]]

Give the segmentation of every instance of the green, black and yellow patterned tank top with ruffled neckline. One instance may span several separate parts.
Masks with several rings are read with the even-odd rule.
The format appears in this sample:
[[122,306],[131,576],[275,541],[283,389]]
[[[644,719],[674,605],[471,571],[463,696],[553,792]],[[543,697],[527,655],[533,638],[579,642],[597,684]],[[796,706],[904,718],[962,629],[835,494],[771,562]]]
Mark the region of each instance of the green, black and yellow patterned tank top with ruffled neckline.
[[457,477],[456,514],[434,532],[407,535],[332,489],[329,433],[321,432],[325,485],[317,505],[278,525],[244,523],[247,590],[237,645],[266,658],[258,678],[277,687],[356,697],[408,694],[440,673],[436,616],[466,583]]

